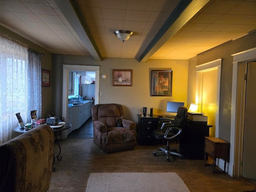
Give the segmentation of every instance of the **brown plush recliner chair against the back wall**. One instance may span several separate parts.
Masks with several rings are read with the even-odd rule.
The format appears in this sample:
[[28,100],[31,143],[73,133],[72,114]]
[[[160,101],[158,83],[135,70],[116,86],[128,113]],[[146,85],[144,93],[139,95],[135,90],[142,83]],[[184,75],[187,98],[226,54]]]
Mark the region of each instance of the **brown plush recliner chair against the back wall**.
[[135,123],[124,119],[122,105],[92,106],[94,143],[103,152],[118,152],[136,146]]

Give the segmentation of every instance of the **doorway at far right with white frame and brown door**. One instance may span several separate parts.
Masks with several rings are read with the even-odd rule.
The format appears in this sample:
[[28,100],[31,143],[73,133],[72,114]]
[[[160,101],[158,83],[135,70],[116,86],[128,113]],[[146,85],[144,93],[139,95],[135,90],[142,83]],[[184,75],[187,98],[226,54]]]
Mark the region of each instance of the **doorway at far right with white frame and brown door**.
[[[233,54],[230,169],[234,177],[255,179],[255,128],[250,125],[250,105],[255,108],[254,76],[256,48]],[[254,62],[253,62],[254,61]],[[248,65],[249,64],[249,65]],[[249,68],[248,68],[249,66]],[[246,76],[247,74],[247,82]],[[254,81],[254,82],[253,82]],[[251,83],[250,83],[251,82]],[[249,89],[249,90],[248,90]],[[251,98],[252,96],[252,98]],[[248,117],[247,117],[248,116]],[[254,135],[250,135],[254,134]],[[254,154],[253,154],[254,151]],[[250,160],[254,162],[250,162]],[[251,176],[251,173],[253,174]]]

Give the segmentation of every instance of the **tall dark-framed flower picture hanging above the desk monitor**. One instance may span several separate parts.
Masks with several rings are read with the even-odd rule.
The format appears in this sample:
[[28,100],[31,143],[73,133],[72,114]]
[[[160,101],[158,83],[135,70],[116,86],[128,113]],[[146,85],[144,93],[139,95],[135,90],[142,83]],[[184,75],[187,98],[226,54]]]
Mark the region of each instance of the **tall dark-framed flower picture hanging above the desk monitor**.
[[151,96],[172,96],[172,70],[151,72]]

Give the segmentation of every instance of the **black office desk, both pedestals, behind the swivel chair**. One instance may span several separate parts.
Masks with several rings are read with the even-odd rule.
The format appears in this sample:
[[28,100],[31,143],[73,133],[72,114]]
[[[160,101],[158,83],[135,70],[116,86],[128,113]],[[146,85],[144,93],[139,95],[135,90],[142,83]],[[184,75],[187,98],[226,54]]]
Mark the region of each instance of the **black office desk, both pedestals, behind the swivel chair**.
[[[158,128],[159,120],[173,120],[173,118],[141,117],[138,114],[137,140],[140,145],[155,145],[156,139],[153,131]],[[188,159],[204,159],[204,137],[209,136],[209,124],[195,124],[186,122],[182,128],[182,138],[180,139],[180,152]]]

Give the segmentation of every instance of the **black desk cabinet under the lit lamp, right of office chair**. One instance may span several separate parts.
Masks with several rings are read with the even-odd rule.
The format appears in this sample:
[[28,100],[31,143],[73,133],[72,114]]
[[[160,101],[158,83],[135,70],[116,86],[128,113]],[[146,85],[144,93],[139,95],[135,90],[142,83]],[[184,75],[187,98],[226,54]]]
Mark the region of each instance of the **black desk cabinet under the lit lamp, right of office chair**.
[[195,124],[186,122],[182,128],[182,138],[180,139],[180,152],[188,159],[204,159],[204,140],[209,136],[209,128],[212,125]]

